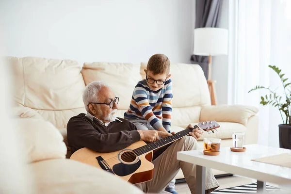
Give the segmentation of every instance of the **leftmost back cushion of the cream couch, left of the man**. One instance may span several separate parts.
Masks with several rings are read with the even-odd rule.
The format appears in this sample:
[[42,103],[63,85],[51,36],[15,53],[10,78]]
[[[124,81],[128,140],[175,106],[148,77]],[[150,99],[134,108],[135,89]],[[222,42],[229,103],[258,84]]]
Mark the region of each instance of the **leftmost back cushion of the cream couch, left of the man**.
[[8,57],[16,85],[16,103],[40,110],[83,107],[85,87],[76,61]]

